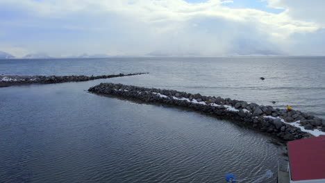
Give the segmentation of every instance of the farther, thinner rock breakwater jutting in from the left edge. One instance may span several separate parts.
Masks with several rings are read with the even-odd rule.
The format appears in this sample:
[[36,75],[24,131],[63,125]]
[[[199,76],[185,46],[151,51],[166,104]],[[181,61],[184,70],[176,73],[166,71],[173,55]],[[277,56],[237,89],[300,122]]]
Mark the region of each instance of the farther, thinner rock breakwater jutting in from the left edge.
[[103,78],[116,78],[123,76],[134,76],[147,73],[119,73],[115,75],[102,76],[0,76],[0,87],[9,87],[12,85],[26,85],[26,84],[50,84],[60,82],[79,82],[87,80],[98,80]]

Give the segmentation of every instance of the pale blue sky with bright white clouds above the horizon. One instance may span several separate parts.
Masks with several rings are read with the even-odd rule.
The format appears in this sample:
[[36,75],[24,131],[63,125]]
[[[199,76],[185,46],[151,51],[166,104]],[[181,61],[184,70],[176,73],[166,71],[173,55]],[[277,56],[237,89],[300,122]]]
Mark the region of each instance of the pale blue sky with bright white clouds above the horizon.
[[0,51],[325,55],[324,0],[0,0]]

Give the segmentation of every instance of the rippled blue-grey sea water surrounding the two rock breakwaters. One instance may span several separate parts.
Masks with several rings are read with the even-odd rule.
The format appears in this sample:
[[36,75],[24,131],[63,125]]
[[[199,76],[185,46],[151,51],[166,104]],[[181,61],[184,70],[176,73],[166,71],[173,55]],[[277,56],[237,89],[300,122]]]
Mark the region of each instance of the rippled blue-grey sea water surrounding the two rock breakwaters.
[[[149,75],[0,88],[0,182],[224,182],[276,172],[264,134],[172,107],[89,94],[100,82],[177,89],[324,117],[325,58],[0,60],[3,75]],[[264,77],[265,80],[260,80]],[[274,182],[275,178],[266,182]]]

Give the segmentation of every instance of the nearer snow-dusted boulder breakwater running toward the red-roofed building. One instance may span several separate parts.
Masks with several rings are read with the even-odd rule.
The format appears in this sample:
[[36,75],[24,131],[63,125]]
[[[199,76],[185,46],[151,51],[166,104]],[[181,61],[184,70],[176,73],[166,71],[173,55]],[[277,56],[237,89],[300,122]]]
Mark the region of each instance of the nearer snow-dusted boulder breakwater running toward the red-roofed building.
[[231,119],[247,127],[272,134],[285,141],[325,135],[325,120],[297,110],[274,109],[245,101],[215,96],[201,96],[175,90],[101,83],[89,92],[136,99],[146,103],[162,103]]

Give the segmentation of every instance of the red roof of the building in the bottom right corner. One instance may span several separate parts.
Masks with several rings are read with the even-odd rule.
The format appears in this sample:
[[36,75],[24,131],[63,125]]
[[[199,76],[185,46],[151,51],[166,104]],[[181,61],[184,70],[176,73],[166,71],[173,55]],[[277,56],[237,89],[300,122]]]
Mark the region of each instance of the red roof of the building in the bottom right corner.
[[325,179],[325,136],[288,142],[291,178]]

